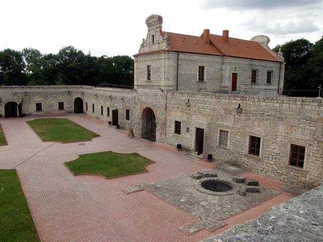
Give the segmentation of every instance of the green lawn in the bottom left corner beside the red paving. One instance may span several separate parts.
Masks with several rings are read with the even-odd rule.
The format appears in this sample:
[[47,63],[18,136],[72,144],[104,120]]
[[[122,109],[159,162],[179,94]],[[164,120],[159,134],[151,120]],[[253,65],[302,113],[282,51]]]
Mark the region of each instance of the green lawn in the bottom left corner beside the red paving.
[[0,183],[0,241],[40,241],[16,170],[0,170]]

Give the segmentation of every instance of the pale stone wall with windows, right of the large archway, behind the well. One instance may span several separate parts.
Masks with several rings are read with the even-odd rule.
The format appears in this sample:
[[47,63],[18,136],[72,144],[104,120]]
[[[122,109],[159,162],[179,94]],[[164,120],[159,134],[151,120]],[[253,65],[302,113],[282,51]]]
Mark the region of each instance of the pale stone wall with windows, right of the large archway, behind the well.
[[[194,152],[201,128],[204,155],[305,188],[322,184],[321,99],[168,92],[167,110],[168,144]],[[219,130],[229,132],[228,147],[219,146]],[[259,156],[248,154],[249,136],[261,138]],[[291,144],[305,147],[303,168],[288,165]]]

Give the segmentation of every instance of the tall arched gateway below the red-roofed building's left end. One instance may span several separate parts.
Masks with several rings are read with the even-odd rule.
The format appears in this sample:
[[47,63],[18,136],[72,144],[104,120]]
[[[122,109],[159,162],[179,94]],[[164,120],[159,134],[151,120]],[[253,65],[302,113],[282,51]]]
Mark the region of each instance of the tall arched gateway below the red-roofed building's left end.
[[146,107],[142,111],[142,138],[148,138],[153,141],[156,140],[156,117],[155,113],[150,107]]

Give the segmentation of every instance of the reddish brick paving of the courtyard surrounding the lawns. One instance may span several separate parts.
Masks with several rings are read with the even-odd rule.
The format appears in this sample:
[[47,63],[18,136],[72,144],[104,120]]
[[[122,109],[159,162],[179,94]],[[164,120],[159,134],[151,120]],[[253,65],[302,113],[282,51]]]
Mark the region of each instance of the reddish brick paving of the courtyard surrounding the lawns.
[[[214,163],[171,152],[166,145],[158,147],[144,139],[127,138],[127,132],[108,128],[87,115],[58,117],[67,117],[101,137],[80,142],[84,145],[41,142],[25,123],[33,117],[0,118],[8,142],[0,147],[0,168],[16,167],[41,241],[198,241],[217,233],[202,229],[188,235],[178,228],[197,221],[197,217],[147,191],[122,192],[140,183],[156,183],[214,168]],[[109,150],[137,152],[156,163],[147,166],[149,172],[114,179],[73,176],[63,165],[79,154]],[[243,218],[232,219],[231,223],[254,216],[254,209],[260,215],[291,198],[280,196],[268,200],[266,206],[261,207],[262,203],[246,210],[241,213]]]

